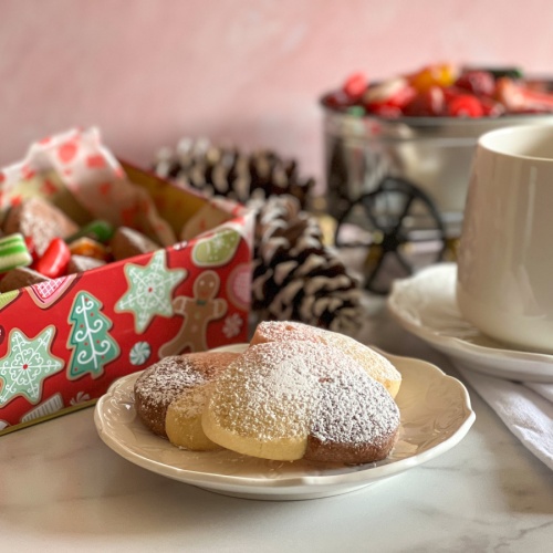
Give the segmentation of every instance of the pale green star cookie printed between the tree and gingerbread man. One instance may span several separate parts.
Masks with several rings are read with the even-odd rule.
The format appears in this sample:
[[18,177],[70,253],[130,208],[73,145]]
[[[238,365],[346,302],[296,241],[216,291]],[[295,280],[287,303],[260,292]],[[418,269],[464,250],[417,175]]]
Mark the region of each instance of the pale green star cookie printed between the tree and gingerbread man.
[[173,316],[173,292],[187,274],[185,269],[167,269],[165,250],[156,251],[147,265],[127,263],[128,289],[115,304],[115,311],[132,313],[136,333],[143,333],[156,315]]

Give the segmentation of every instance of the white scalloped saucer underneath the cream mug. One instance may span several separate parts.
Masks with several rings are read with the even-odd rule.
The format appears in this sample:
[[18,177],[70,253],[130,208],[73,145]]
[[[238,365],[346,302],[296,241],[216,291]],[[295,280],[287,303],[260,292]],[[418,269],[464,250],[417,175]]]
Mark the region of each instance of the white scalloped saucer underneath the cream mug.
[[510,348],[462,319],[456,279],[457,264],[440,263],[395,281],[388,296],[390,313],[463,368],[511,380],[553,383],[553,355]]

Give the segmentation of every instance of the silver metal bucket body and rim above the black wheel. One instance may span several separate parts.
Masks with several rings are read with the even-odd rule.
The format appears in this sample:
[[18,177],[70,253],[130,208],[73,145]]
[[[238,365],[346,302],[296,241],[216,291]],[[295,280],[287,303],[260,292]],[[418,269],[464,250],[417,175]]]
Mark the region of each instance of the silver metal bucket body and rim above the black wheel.
[[374,190],[384,176],[396,176],[426,192],[452,237],[460,233],[479,136],[504,126],[553,125],[553,114],[385,119],[340,112],[330,107],[325,97],[321,104],[328,213],[340,219],[352,204]]

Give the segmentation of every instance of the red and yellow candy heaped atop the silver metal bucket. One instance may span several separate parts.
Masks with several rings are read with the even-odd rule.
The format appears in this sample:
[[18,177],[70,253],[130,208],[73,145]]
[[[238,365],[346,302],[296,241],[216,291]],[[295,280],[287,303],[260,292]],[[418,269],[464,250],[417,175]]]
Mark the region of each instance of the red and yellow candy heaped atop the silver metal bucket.
[[432,64],[419,71],[371,83],[352,74],[323,105],[352,115],[397,117],[498,117],[553,112],[545,83],[524,80],[518,70],[465,69]]

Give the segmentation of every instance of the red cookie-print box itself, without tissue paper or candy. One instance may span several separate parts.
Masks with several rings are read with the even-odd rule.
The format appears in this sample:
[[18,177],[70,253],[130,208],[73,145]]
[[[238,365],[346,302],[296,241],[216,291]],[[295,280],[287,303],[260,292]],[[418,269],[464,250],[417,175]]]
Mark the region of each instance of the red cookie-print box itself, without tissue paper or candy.
[[[196,238],[0,294],[0,434],[93,404],[161,357],[246,342],[253,215],[127,164],[127,178],[178,233]],[[215,215],[215,217],[212,217]]]

